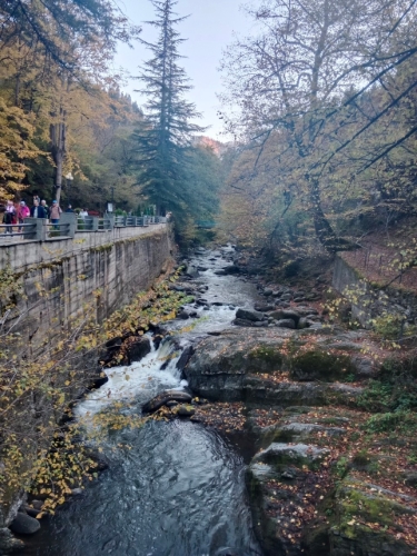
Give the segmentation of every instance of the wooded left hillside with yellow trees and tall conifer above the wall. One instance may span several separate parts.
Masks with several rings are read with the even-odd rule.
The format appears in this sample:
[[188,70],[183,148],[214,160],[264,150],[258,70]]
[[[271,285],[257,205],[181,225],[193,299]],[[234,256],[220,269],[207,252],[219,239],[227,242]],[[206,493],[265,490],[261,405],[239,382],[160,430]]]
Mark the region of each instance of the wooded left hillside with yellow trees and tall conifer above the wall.
[[143,113],[120,92],[122,76],[111,71],[117,44],[135,44],[140,36],[116,3],[2,2],[2,202],[30,203],[38,195],[101,214],[112,199],[135,214],[155,203],[177,212],[187,237],[198,218],[216,212],[219,158],[202,142],[191,145],[202,128],[189,123],[198,113],[183,97],[191,86],[177,63],[181,18],[171,3],[163,10],[153,2],[160,37],[149,48],[158,62],[138,68],[138,89],[149,96]]

